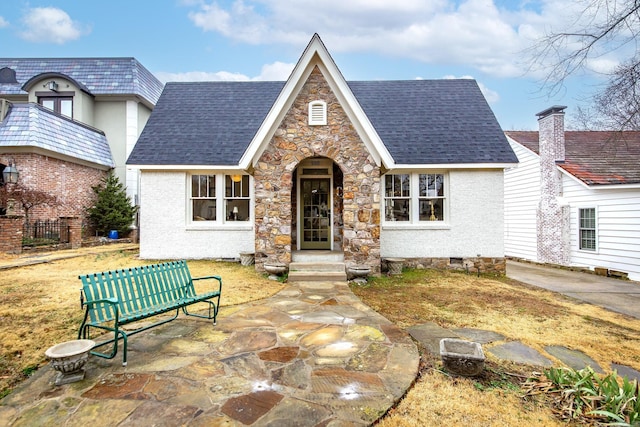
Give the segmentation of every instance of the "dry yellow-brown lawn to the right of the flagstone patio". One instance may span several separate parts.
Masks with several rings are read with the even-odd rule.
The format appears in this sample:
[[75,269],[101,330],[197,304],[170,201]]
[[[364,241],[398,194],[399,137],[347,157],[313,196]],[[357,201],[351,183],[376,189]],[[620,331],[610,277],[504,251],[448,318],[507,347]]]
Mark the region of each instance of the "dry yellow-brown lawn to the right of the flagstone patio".
[[[507,278],[410,270],[352,290],[402,328],[486,329],[540,352],[547,345],[580,350],[606,372],[611,362],[640,370],[640,320]],[[487,353],[491,344],[483,347],[486,369],[474,379],[447,375],[439,358],[423,352],[420,378],[379,425],[566,425],[543,398],[523,398],[520,386],[536,368],[500,361]]]

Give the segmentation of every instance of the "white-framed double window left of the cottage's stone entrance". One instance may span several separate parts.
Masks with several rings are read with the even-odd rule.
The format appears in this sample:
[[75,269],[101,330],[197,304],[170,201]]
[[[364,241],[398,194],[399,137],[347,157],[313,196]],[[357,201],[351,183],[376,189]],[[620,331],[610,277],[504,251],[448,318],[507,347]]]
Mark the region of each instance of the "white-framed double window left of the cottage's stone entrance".
[[192,174],[188,178],[191,224],[235,223],[251,219],[251,180],[245,174]]

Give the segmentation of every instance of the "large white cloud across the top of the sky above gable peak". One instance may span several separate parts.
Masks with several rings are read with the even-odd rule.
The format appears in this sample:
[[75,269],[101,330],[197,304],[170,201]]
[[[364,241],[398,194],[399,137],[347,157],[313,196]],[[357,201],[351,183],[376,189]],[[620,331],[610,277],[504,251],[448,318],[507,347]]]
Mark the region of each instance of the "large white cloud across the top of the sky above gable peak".
[[[187,0],[184,0],[185,2]],[[498,77],[527,71],[526,48],[564,29],[584,2],[531,0],[190,1],[204,31],[248,44],[304,46],[317,32],[331,52],[379,53],[428,64],[466,65]],[[185,3],[186,4],[186,3]],[[525,65],[523,65],[525,64]]]

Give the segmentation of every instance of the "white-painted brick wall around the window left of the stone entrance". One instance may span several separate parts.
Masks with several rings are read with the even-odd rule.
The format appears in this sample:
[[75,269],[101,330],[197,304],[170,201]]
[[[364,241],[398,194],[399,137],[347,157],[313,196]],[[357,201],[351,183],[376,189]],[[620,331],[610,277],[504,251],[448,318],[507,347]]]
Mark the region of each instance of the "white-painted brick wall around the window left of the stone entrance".
[[187,221],[187,174],[142,171],[140,257],[238,258],[254,250],[253,223],[192,226]]

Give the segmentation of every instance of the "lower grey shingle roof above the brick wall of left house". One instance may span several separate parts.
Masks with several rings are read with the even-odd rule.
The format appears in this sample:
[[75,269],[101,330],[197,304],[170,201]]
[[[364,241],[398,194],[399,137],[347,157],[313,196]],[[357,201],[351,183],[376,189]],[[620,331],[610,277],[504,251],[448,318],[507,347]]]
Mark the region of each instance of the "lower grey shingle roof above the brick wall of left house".
[[13,104],[0,122],[0,147],[36,147],[114,167],[104,133],[38,104]]

